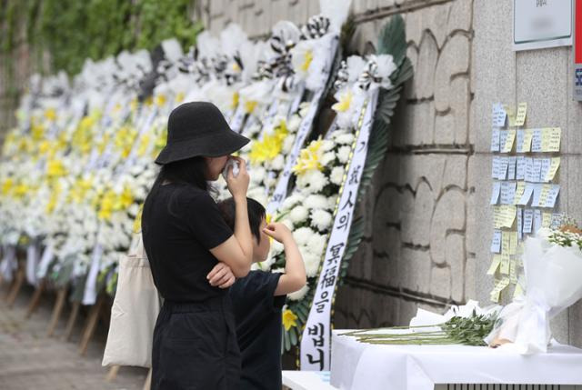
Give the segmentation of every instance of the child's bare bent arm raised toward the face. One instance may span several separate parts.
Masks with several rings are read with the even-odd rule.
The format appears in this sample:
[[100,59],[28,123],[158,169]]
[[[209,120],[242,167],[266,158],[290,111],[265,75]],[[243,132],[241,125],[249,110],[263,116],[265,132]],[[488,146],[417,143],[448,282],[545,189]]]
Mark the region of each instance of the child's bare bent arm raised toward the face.
[[275,295],[287,295],[300,290],[306,285],[306,267],[293,234],[283,224],[269,224],[264,232],[285,246],[285,274],[279,277]]

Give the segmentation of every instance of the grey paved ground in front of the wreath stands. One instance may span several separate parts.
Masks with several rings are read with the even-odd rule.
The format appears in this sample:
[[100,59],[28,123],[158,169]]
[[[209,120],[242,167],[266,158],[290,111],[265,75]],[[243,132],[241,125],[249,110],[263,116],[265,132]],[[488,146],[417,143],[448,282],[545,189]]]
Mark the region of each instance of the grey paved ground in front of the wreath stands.
[[61,341],[68,315],[65,311],[55,337],[47,338],[46,327],[55,295],[46,294],[35,314],[25,320],[32,288],[23,288],[12,309],[5,305],[6,288],[0,285],[0,389],[142,389],[147,374],[142,368],[122,367],[115,381],[105,382],[108,370],[101,366],[106,338],[103,325],[87,355],[81,357],[77,348],[84,318],[77,321],[72,340]]

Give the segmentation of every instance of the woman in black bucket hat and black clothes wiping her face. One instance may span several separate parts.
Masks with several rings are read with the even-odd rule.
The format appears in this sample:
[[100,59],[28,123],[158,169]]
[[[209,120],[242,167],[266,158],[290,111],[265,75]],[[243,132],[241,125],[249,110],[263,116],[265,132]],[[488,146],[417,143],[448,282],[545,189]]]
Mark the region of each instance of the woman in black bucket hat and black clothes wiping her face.
[[230,167],[226,178],[236,200],[234,234],[207,182],[246,143],[210,103],[179,105],[168,119],[167,145],[156,159],[162,168],[142,217],[144,246],[164,297],[154,331],[152,389],[238,387],[240,356],[226,287],[251,265],[245,161],[237,159],[238,175]]

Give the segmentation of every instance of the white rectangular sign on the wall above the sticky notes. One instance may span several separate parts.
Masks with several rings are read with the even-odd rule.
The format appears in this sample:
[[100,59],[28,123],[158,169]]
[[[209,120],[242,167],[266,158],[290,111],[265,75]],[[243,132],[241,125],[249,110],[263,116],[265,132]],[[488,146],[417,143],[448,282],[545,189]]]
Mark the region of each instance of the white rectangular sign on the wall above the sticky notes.
[[513,49],[572,45],[574,0],[514,0]]

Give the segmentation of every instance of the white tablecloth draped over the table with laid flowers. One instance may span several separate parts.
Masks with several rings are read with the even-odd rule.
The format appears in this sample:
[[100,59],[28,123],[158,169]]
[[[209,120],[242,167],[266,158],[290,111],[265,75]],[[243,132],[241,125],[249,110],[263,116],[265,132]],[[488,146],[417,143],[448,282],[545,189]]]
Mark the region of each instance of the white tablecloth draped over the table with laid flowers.
[[553,345],[547,354],[509,347],[368,345],[332,335],[331,385],[353,390],[433,390],[435,384],[582,385],[582,349]]

